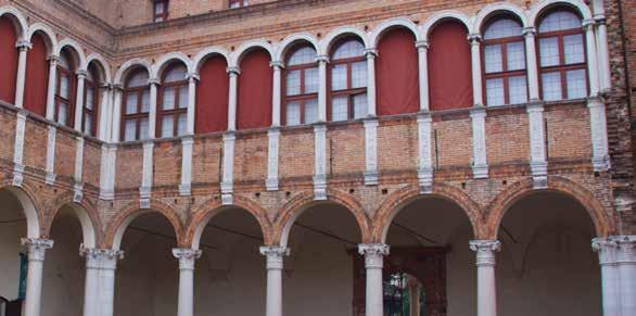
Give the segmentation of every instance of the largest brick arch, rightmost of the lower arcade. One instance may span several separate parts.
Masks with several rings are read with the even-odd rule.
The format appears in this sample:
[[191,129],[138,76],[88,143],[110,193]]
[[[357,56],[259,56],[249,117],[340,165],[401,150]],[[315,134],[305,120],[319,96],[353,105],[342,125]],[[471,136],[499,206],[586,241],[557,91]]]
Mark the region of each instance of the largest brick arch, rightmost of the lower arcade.
[[608,237],[615,230],[614,219],[608,215],[605,206],[592,192],[572,180],[551,176],[548,177],[547,189],[534,189],[532,179],[525,179],[499,193],[488,205],[491,212],[486,218],[487,239],[497,239],[501,220],[510,207],[523,198],[540,191],[561,193],[581,204],[587,211],[597,237]]

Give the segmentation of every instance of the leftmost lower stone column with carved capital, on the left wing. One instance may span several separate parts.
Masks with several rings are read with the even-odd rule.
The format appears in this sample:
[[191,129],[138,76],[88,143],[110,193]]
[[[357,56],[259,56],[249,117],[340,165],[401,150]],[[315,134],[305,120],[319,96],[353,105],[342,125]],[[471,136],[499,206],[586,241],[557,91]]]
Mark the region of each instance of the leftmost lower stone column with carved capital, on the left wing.
[[42,267],[44,254],[53,247],[53,241],[48,239],[25,238],[22,244],[28,253],[28,267],[26,277],[26,299],[24,303],[24,316],[39,316],[42,296]]

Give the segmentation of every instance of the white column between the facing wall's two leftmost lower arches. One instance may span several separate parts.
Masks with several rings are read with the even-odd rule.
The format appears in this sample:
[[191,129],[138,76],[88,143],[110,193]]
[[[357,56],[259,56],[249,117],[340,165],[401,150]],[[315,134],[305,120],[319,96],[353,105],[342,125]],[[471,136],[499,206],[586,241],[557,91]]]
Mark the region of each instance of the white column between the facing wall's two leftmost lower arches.
[[173,249],[179,260],[179,305],[177,316],[194,315],[194,264],[201,257],[200,250]]

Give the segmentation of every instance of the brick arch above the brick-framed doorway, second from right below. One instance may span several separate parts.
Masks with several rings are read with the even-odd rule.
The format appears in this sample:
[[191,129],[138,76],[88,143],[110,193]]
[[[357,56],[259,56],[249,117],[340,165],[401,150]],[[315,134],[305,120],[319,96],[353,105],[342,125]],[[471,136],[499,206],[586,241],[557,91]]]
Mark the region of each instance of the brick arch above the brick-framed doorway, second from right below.
[[389,228],[393,219],[404,207],[419,199],[441,198],[458,205],[467,215],[473,231],[473,236],[480,239],[484,236],[483,212],[479,204],[461,190],[444,185],[433,184],[433,190],[429,194],[422,194],[417,185],[408,186],[393,192],[373,216],[373,240],[384,243]]

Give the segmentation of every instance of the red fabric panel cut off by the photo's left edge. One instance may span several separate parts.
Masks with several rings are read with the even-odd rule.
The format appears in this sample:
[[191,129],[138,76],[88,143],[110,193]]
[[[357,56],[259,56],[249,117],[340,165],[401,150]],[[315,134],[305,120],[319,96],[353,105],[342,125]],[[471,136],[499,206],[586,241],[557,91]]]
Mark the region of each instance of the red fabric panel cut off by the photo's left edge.
[[15,78],[17,77],[17,49],[15,28],[11,20],[0,17],[0,100],[15,102]]

